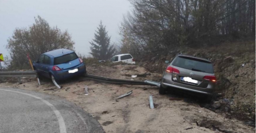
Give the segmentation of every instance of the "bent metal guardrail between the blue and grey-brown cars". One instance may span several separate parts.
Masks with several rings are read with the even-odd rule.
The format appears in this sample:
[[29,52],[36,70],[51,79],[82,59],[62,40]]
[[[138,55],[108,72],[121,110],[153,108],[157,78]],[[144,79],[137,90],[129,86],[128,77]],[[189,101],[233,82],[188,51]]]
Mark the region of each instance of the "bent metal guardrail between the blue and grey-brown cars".
[[[154,81],[152,81],[150,83],[149,80],[146,80],[148,82],[145,81],[135,81],[135,80],[121,80],[121,79],[111,79],[108,77],[102,77],[102,76],[95,76],[95,75],[86,75],[86,78],[90,79],[90,80],[94,80],[94,81],[100,81],[103,83],[111,83],[111,84],[130,84],[130,85],[150,85],[150,86],[158,86],[155,83],[152,83]],[[160,83],[159,83],[160,84]]]

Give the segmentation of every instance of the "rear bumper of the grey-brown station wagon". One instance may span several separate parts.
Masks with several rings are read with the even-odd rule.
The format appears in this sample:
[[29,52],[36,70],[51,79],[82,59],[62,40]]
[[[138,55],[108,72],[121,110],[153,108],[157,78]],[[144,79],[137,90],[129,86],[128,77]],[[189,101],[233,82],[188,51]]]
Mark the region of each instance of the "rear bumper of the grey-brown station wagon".
[[174,88],[183,89],[186,91],[202,93],[205,95],[212,95],[214,92],[214,85],[209,84],[207,88],[200,88],[200,87],[195,87],[187,84],[177,83],[175,81],[172,81],[172,77],[170,75],[164,76],[162,78],[161,85],[164,88],[174,87]]

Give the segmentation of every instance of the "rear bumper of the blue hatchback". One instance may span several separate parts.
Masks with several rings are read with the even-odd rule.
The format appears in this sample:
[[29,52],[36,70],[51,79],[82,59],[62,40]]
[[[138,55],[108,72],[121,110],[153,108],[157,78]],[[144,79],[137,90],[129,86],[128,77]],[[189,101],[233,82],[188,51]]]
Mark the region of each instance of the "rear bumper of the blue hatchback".
[[56,80],[65,80],[65,79],[69,79],[74,76],[84,75],[84,73],[86,73],[86,65],[84,65],[84,63],[78,65],[76,68],[72,68],[72,70],[73,69],[78,69],[78,71],[75,73],[68,73],[68,70],[67,70],[65,72],[62,71],[62,72],[54,73],[55,79]]

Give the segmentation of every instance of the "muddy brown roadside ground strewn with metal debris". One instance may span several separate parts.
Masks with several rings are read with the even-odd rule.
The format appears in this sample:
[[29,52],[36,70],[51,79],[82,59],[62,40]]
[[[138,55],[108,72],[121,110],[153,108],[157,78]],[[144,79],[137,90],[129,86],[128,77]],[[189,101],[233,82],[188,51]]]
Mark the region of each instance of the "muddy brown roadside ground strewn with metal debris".
[[[95,64],[88,66],[87,71],[92,75],[117,79],[131,79],[129,75],[145,75],[134,80],[161,79],[161,74],[148,73],[137,65],[106,67]],[[193,98],[172,93],[159,95],[157,87],[97,83],[82,77],[64,81],[61,89],[56,89],[47,79],[42,79],[40,86],[36,79],[26,82],[24,78],[22,81],[25,83],[1,83],[0,87],[64,97],[89,112],[106,132],[255,132],[254,127],[239,120],[227,119],[227,114],[200,107],[200,102]],[[88,85],[88,96],[84,95],[85,85]],[[115,100],[131,90],[130,96]],[[150,94],[153,95],[154,109],[149,108]]]

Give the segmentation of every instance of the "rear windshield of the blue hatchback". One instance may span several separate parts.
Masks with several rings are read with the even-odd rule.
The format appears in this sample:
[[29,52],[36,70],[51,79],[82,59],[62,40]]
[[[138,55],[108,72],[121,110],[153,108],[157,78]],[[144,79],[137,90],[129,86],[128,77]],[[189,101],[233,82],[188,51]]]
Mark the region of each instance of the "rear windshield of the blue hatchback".
[[78,58],[76,53],[65,54],[63,56],[54,58],[54,64],[55,65],[63,64],[63,63],[75,60],[76,58]]

